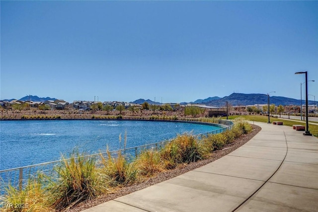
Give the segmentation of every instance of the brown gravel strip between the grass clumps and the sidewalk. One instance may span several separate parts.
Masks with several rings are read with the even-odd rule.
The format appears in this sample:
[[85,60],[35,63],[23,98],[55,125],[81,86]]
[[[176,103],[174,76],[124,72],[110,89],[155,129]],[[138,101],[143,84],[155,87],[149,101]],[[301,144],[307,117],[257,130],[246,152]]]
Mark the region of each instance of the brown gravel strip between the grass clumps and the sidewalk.
[[148,179],[144,180],[143,182],[136,183],[134,185],[123,187],[123,188],[118,188],[113,193],[105,194],[105,195],[99,196],[93,200],[88,200],[88,201],[82,202],[79,205],[75,206],[74,208],[68,209],[66,212],[83,211],[85,209],[88,209],[88,208],[97,206],[99,204],[114,200],[114,199],[119,198],[119,197],[124,196],[124,195],[145,189],[149,186],[152,186],[152,185],[158,184],[160,182],[169,180],[173,177],[182,175],[182,174],[189,172],[193,169],[196,169],[196,168],[204,166],[208,163],[211,163],[211,162],[231,153],[232,151],[236,150],[237,148],[242,146],[244,143],[249,141],[252,137],[254,137],[254,135],[256,135],[261,130],[261,128],[259,126],[252,125],[252,127],[253,127],[253,131],[251,133],[242,135],[241,137],[236,139],[233,143],[224,146],[224,148],[222,150],[214,151],[213,154],[208,159],[201,160],[201,161],[198,161],[195,163],[190,163],[190,164],[182,164],[173,170],[168,170],[165,172],[158,173],[156,176],[148,178]]

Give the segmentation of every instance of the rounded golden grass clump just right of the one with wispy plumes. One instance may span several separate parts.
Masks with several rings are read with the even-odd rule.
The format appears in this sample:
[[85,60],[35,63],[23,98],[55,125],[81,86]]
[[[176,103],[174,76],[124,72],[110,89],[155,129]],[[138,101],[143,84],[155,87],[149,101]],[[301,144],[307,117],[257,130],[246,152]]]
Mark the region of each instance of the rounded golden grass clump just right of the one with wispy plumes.
[[155,173],[164,170],[163,163],[161,163],[160,154],[158,151],[146,150],[143,151],[136,159],[140,174],[150,177]]

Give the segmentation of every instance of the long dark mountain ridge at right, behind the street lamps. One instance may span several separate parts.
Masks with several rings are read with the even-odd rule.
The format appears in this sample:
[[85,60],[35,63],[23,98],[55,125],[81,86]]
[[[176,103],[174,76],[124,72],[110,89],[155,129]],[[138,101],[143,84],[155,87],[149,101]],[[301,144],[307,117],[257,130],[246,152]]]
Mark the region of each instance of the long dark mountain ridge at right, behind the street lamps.
[[[270,104],[275,105],[300,105],[300,100],[287,98],[287,97],[269,97]],[[265,94],[239,94],[233,93],[228,97],[221,98],[219,100],[211,100],[207,102],[202,102],[207,106],[225,106],[226,102],[232,106],[247,106],[247,105],[266,105],[267,104],[267,95]],[[313,105],[314,101],[308,101],[310,105]],[[305,104],[305,101],[304,103]]]

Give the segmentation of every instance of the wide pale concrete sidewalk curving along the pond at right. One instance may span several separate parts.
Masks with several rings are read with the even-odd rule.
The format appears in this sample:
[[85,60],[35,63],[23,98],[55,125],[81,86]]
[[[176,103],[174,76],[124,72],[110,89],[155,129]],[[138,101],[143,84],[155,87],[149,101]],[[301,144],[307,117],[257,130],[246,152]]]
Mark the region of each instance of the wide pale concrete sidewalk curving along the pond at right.
[[262,130],[219,160],[84,212],[317,212],[318,139],[255,124]]

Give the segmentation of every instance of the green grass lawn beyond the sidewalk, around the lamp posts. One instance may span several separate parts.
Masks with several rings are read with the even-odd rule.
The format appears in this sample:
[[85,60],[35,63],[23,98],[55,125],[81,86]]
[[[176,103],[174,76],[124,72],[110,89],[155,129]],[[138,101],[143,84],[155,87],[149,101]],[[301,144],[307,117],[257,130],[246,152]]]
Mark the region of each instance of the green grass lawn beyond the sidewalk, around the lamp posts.
[[[235,119],[235,118],[240,117],[240,116],[244,117],[245,119],[250,120],[250,121],[268,122],[268,116],[266,116],[266,115],[231,115],[231,116],[229,116],[229,119]],[[223,118],[226,118],[226,117],[223,117]],[[291,126],[291,127],[293,127],[293,124],[301,124],[301,125],[306,126],[306,123],[303,123],[303,122],[300,122],[297,120],[296,121],[295,120],[285,120],[285,119],[282,120],[279,118],[270,117],[270,122],[273,122],[273,121],[283,121],[284,125]],[[311,124],[309,122],[309,131],[315,137],[318,137],[318,125]]]

